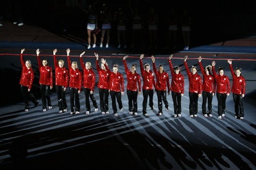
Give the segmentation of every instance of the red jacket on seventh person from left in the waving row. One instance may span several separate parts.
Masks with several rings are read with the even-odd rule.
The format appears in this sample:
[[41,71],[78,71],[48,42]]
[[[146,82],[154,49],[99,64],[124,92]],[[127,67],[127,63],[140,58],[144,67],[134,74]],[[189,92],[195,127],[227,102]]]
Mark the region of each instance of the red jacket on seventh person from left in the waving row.
[[104,65],[106,67],[106,70],[108,70],[108,72],[110,74],[110,88],[109,89],[111,91],[121,92],[121,88],[122,88],[122,91],[124,91],[123,75],[120,72],[117,72],[117,74],[115,74],[114,72],[112,72],[110,70],[110,68],[106,64],[104,64]]

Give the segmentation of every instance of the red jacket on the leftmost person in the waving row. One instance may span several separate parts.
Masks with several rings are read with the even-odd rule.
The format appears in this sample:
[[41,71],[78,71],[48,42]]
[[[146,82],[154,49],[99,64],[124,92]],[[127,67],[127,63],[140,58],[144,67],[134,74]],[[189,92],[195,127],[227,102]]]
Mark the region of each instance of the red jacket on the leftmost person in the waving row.
[[34,81],[34,71],[32,68],[28,69],[26,67],[23,54],[20,54],[20,63],[22,63],[22,77],[20,78],[19,84],[31,89]]

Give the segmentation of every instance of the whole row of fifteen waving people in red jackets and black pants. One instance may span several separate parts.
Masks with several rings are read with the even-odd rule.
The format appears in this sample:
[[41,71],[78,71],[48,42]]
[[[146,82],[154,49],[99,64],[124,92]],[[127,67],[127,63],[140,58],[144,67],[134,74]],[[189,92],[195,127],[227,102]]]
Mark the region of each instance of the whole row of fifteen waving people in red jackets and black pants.
[[[33,70],[31,68],[30,60],[27,60],[24,63],[23,52],[25,49],[22,49],[20,60],[23,66],[22,78],[20,79],[20,87],[25,100],[25,111],[29,109],[28,98],[31,97],[32,102],[35,105],[38,105],[38,101],[34,98],[32,92],[30,91],[33,83]],[[80,102],[79,102],[79,94],[81,92],[82,87],[82,77],[83,77],[83,91],[86,96],[86,114],[89,114],[91,111],[90,101],[91,99],[93,106],[95,107],[95,111],[98,111],[98,105],[94,98],[93,92],[95,87],[95,73],[92,69],[92,65],[90,62],[86,62],[84,64],[82,60],[82,54],[80,54],[80,63],[83,70],[82,72],[78,69],[78,64],[76,61],[70,61],[70,49],[67,49],[67,59],[69,70],[65,68],[64,61],[59,60],[57,62],[55,49],[53,51],[54,57],[54,67],[55,67],[55,87],[58,96],[58,107],[59,113],[67,111],[67,102],[66,102],[66,89],[70,87],[70,107],[71,114],[79,114],[80,113]],[[47,111],[47,105],[49,109],[52,108],[51,99],[50,99],[50,89],[53,87],[53,76],[52,76],[52,68],[48,66],[47,59],[43,59],[40,61],[39,57],[39,49],[36,50],[37,61],[40,71],[40,91],[42,97],[42,109],[43,111]],[[114,115],[117,114],[117,105],[118,103],[119,110],[122,110],[122,101],[121,95],[124,94],[124,81],[123,75],[118,72],[118,65],[113,65],[112,71],[110,70],[106,60],[101,59],[101,65],[99,66],[98,54],[95,53],[96,56],[96,67],[99,76],[98,89],[100,96],[100,110],[102,114],[109,113],[109,94],[112,99],[112,108],[114,111]],[[144,57],[143,54],[140,55],[140,70],[141,77],[137,74],[136,69],[137,65],[132,64],[130,69],[127,66],[126,59],[129,56],[123,57],[123,64],[127,77],[127,86],[126,92],[129,100],[129,113],[137,115],[138,105],[137,105],[137,96],[141,92],[141,77],[143,79],[142,92],[143,92],[143,114],[147,116],[147,100],[149,98],[149,106],[151,109],[154,109],[153,104],[153,94],[154,88],[157,93],[158,98],[158,114],[162,114],[163,104],[165,105],[165,109],[168,110],[168,102],[166,99],[166,92],[170,94],[172,91],[172,98],[174,102],[174,116],[181,116],[181,97],[184,94],[184,76],[180,72],[179,66],[173,67],[172,65],[172,57],[169,56],[168,63],[170,67],[170,72],[172,75],[172,82],[169,83],[168,73],[164,71],[163,65],[159,65],[158,69],[155,65],[155,58],[152,56],[153,62],[153,70],[150,69],[150,64],[146,63],[143,66],[142,59]],[[230,84],[227,76],[224,75],[223,68],[219,68],[217,75],[215,72],[215,61],[212,61],[212,65],[208,65],[203,68],[201,63],[202,57],[199,57],[199,65],[203,74],[203,83],[201,80],[201,76],[197,74],[197,68],[195,66],[191,67],[191,71],[189,71],[187,62],[187,56],[184,58],[184,65],[186,68],[186,72],[189,80],[189,115],[190,117],[196,117],[198,112],[198,98],[203,96],[203,104],[202,104],[202,112],[205,117],[212,116],[211,115],[211,101],[212,96],[217,95],[218,99],[218,118],[225,116],[225,102],[226,96],[230,93]],[[235,104],[235,112],[236,117],[243,119],[244,111],[243,111],[243,103],[242,98],[245,94],[245,79],[241,76],[241,69],[237,68],[235,71],[232,69],[232,61],[228,60],[230,65],[230,70],[233,78],[233,85],[231,91],[233,93],[233,100]],[[212,74],[211,74],[212,72]],[[155,79],[156,78],[156,79]],[[217,88],[216,88],[217,87]],[[208,106],[206,109],[206,102],[208,101]]]

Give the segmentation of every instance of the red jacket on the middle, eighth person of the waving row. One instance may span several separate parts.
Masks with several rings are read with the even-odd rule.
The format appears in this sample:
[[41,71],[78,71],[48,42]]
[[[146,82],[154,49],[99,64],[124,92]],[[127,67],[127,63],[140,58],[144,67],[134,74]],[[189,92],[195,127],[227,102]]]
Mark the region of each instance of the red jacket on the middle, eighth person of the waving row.
[[[138,91],[138,87],[139,87],[139,92],[140,92],[141,91],[140,75],[137,74],[136,71],[133,74],[132,71],[130,71],[129,68],[127,67],[127,63],[125,60],[123,60],[123,64],[124,64],[124,69],[127,76],[126,89],[131,91]],[[137,82],[138,82],[138,85],[137,85]]]

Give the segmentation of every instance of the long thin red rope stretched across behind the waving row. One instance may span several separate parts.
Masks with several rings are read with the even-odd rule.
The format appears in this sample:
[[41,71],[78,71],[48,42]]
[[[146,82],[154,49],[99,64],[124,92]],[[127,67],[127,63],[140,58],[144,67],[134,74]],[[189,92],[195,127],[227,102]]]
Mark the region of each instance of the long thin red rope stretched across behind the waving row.
[[[6,53],[6,54],[0,54],[0,56],[20,56],[20,54],[9,54],[9,53]],[[34,54],[24,54],[24,56],[36,56]],[[48,54],[45,54],[45,55],[40,55],[41,56],[49,56],[49,57],[52,57],[53,55],[48,55]],[[57,57],[67,57],[67,55],[56,55]],[[99,56],[100,58],[123,58],[125,55],[123,56]],[[80,57],[80,56],[71,56],[70,57]],[[92,57],[92,58],[96,58],[95,56],[83,56],[83,57]],[[166,56],[166,57],[155,57],[156,59],[168,59],[169,56]],[[139,56],[129,56],[129,58],[140,58]],[[151,56],[149,57],[144,57],[145,58],[151,58]],[[184,57],[173,57],[172,59],[184,59]],[[228,60],[230,58],[203,58],[202,59],[204,60]],[[198,60],[198,58],[187,58],[187,60]],[[256,61],[256,59],[246,59],[246,58],[239,58],[239,59],[230,59],[230,60],[236,60],[236,61]]]

